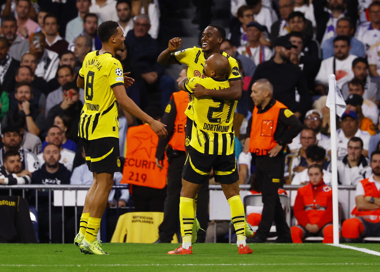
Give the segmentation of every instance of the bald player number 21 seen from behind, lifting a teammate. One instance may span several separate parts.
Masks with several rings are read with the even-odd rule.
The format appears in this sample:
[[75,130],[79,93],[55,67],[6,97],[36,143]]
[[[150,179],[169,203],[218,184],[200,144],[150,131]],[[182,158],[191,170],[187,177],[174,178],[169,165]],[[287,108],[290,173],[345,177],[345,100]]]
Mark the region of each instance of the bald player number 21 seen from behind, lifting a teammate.
[[[207,58],[204,74],[207,78],[193,77],[182,80],[181,90],[193,93],[195,84],[222,91],[229,87],[226,74],[228,59],[221,54]],[[234,130],[232,126],[235,100],[215,99],[211,96],[195,98],[194,122],[190,149],[182,171],[182,190],[179,202],[179,218],[182,245],[168,254],[193,254],[192,229],[194,224],[194,198],[202,184],[208,179],[211,169],[215,181],[222,185],[231,208],[231,217],[237,235],[239,254],[252,254],[245,243],[245,215],[239,194],[239,175],[234,152]]]

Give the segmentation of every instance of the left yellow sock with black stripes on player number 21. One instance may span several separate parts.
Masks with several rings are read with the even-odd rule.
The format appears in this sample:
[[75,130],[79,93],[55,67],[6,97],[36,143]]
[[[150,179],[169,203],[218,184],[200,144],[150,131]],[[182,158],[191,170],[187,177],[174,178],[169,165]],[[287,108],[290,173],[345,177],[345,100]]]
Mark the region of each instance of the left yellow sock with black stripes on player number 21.
[[194,199],[187,197],[179,198],[179,221],[181,227],[182,245],[190,242],[194,224]]

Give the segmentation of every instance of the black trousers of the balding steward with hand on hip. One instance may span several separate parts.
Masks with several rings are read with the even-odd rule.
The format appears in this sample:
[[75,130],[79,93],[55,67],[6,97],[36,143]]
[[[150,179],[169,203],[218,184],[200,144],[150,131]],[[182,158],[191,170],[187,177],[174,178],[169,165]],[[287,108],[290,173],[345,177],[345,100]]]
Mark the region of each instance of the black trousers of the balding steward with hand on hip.
[[263,214],[255,236],[265,240],[274,221],[279,237],[290,237],[278,189],[282,187],[284,156],[256,156],[256,182],[263,197]]

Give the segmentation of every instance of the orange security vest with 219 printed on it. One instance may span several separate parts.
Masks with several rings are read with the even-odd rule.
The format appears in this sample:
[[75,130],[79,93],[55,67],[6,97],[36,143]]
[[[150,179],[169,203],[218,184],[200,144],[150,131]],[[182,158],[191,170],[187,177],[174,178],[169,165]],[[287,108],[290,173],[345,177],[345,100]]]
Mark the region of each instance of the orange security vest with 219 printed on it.
[[168,161],[162,161],[163,169],[156,165],[158,136],[148,124],[130,127],[127,130],[127,152],[123,179],[120,183],[162,189],[166,185]]

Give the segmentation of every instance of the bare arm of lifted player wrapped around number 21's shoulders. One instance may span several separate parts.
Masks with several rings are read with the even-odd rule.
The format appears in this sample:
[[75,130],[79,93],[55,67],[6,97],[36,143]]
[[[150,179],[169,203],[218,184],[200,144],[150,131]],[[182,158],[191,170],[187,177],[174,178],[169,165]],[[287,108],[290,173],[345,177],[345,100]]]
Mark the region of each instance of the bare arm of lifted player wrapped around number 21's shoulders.
[[202,96],[212,96],[219,99],[232,99],[232,100],[240,100],[242,94],[243,81],[235,80],[230,82],[230,87],[222,89],[222,90],[212,90],[206,89],[201,84],[195,84],[195,88],[193,89],[193,94],[195,97]]

